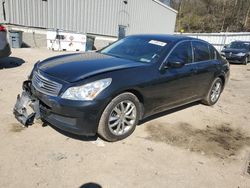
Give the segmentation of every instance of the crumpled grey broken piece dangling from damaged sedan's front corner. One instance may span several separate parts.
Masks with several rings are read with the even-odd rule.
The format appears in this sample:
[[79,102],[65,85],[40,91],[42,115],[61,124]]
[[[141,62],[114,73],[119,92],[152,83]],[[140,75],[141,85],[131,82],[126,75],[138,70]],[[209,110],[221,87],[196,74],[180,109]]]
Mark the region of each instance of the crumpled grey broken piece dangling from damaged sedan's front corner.
[[39,100],[31,94],[31,81],[23,82],[23,92],[17,96],[17,101],[13,109],[15,118],[28,127],[40,118]]

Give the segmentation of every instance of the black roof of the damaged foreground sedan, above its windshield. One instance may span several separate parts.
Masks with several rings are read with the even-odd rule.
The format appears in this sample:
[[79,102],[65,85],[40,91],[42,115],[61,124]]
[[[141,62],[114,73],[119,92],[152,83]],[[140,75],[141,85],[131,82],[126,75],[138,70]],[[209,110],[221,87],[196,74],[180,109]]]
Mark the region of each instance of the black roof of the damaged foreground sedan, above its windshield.
[[179,42],[182,40],[199,40],[184,35],[166,35],[166,34],[141,34],[141,35],[130,35],[128,37],[142,37],[146,39],[154,39],[154,40],[168,41],[168,42]]

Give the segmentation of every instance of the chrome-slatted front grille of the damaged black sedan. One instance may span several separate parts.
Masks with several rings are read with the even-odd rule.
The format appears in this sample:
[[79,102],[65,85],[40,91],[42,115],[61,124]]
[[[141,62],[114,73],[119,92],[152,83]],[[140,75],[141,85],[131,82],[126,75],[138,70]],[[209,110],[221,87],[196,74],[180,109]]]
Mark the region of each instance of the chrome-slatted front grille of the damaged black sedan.
[[41,93],[51,96],[58,96],[62,88],[61,84],[45,78],[36,71],[33,73],[32,85]]

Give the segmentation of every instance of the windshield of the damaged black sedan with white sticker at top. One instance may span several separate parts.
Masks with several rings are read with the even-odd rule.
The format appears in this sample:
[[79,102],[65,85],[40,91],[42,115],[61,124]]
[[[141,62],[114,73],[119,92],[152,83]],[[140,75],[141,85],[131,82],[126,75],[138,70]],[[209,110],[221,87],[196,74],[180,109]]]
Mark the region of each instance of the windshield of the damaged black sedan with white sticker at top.
[[121,39],[100,53],[124,58],[143,63],[150,63],[157,60],[167,43],[159,40],[151,40],[142,37],[128,37]]

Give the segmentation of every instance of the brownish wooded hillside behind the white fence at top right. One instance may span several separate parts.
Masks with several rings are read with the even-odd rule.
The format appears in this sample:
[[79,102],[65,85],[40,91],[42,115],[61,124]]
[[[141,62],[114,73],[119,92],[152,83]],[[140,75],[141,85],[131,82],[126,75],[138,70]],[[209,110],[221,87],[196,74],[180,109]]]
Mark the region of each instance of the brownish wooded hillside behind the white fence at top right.
[[173,0],[176,31],[250,31],[250,0]]

